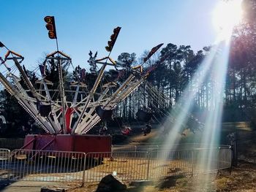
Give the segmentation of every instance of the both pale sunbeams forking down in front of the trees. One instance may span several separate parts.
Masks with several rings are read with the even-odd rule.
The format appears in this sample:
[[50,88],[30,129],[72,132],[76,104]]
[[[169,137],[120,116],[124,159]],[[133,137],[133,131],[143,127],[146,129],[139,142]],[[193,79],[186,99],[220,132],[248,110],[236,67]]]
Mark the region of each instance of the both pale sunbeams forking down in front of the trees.
[[[208,81],[208,78],[210,77],[213,82],[212,101],[208,112],[206,113],[205,126],[199,141],[200,150],[198,150],[198,153],[197,150],[194,150],[192,154],[193,158],[200,159],[200,162],[193,165],[195,166],[193,169],[197,169],[204,173],[218,169],[219,161],[216,160],[219,159],[219,150],[216,146],[219,145],[229,50],[230,37],[211,47],[210,52],[206,55],[206,58],[195,73],[200,75],[192,77],[191,84],[187,85],[183,95],[178,103],[176,103],[176,106],[180,107],[178,107],[178,110],[172,110],[170,112],[170,117],[165,121],[164,126],[168,127],[169,131],[165,138],[162,150],[168,152],[168,155],[165,155],[165,158],[168,160],[175,156],[173,155],[173,150],[175,150],[175,144],[181,139],[181,132],[184,124],[186,124],[189,119],[189,113],[192,111],[195,96],[197,96],[197,88],[200,88],[200,86]],[[191,86],[195,87],[192,91]],[[170,121],[172,121],[173,124],[170,124]],[[198,140],[195,142],[198,142]],[[206,177],[204,177],[204,180],[205,182],[202,183],[202,185],[194,186],[195,191],[202,188],[208,188],[211,175],[207,174]]]

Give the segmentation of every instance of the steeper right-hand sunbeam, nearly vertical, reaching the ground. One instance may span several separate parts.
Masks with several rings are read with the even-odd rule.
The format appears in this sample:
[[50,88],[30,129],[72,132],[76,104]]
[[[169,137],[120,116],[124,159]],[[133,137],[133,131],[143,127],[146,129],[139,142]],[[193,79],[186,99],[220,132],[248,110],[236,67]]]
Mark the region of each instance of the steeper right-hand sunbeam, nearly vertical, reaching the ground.
[[[203,148],[205,143],[209,144],[208,148],[203,150],[203,153],[201,154],[201,159],[203,161],[200,162],[200,167],[198,169],[201,169],[203,172],[217,169],[219,163],[217,161],[213,161],[212,159],[216,159],[216,157],[219,157],[216,146],[219,144],[221,130],[223,96],[227,72],[228,55],[230,50],[229,45],[229,43],[226,44],[225,42],[220,42],[218,53],[216,54],[216,58],[213,61],[214,68],[211,71],[211,75],[215,80],[213,88],[214,105],[206,115],[205,128],[203,130],[202,139],[200,142],[200,148]],[[211,175],[206,174],[204,180],[205,182],[202,183],[202,185],[195,186],[195,191],[198,191],[202,188],[208,188],[208,183],[211,180]]]

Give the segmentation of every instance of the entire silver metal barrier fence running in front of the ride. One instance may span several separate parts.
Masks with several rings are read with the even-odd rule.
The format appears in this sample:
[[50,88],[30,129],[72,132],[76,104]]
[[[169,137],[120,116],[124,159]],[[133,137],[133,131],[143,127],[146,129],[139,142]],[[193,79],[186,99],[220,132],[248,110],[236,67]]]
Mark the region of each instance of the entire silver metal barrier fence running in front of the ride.
[[152,148],[154,147],[148,147],[147,151],[86,154],[40,150],[10,152],[0,149],[0,180],[83,185],[99,182],[107,174],[117,174],[121,180],[157,180],[181,174],[213,172],[231,166],[230,148],[151,150]]

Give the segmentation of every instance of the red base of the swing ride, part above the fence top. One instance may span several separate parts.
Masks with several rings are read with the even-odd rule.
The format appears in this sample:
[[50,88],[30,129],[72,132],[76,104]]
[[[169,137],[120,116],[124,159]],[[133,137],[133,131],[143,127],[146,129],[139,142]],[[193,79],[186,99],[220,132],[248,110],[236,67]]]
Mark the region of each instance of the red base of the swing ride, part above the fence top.
[[56,150],[71,152],[111,152],[111,137],[99,135],[40,135],[29,134],[24,150]]

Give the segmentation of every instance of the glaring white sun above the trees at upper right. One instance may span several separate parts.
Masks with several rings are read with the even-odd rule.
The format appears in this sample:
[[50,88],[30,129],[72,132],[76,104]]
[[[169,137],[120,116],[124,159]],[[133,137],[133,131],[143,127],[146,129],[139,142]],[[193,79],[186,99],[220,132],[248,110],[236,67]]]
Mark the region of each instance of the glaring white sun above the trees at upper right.
[[233,27],[241,22],[243,10],[242,0],[219,1],[213,12],[213,24],[218,33],[218,39],[230,39]]

